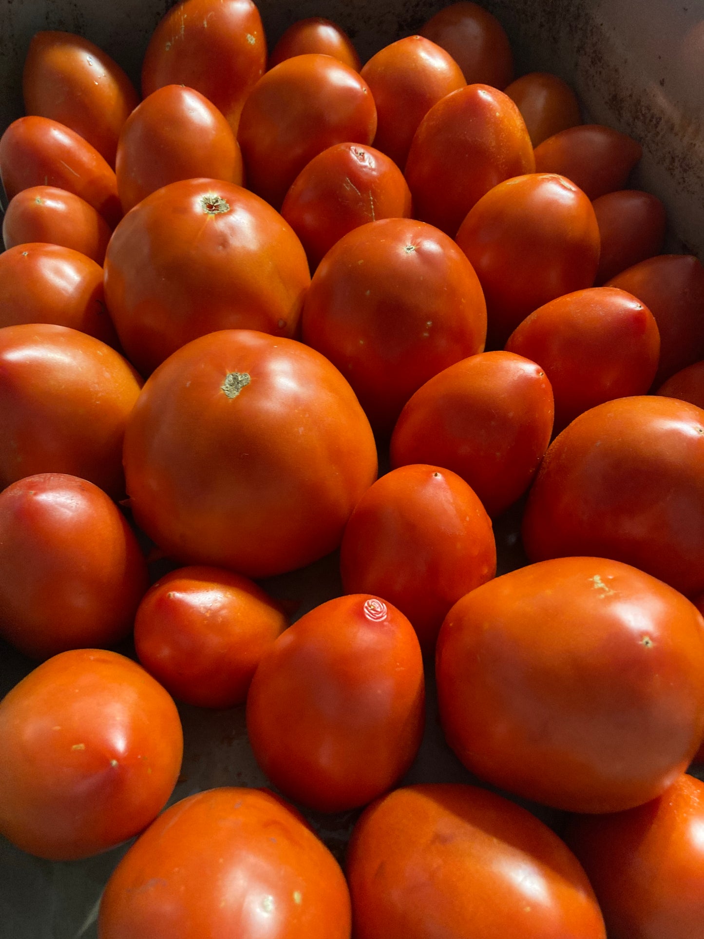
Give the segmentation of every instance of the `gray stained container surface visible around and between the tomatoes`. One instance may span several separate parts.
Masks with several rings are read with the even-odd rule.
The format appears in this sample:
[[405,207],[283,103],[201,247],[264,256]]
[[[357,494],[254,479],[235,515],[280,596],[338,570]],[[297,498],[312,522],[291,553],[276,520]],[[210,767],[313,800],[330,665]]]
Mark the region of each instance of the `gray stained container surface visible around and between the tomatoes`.
[[[138,84],[148,38],[170,6],[167,0],[0,0],[0,131],[23,113],[23,60],[37,30],[63,29],[92,39]],[[416,32],[443,4],[261,0],[258,6],[269,48],[290,23],[322,15],[347,30],[364,61],[394,39]],[[674,249],[704,257],[704,0],[487,0],[484,6],[512,39],[516,74],[556,72],[574,85],[592,120],[630,133],[643,145],[637,185],[666,203]],[[516,508],[495,524],[499,573],[525,563],[519,519]],[[264,586],[296,602],[297,616],[342,593],[335,556]],[[31,668],[28,660],[2,646],[0,696]],[[404,781],[472,781],[444,743],[432,667],[426,668],[426,675],[430,687],[425,738]],[[172,801],[214,786],[266,784],[247,742],[243,708],[180,711],[186,745]],[[559,813],[530,808],[559,830]],[[357,813],[306,814],[342,857]],[[0,939],[97,936],[100,892],[125,850],[123,846],[83,862],[51,864],[0,839]]]

